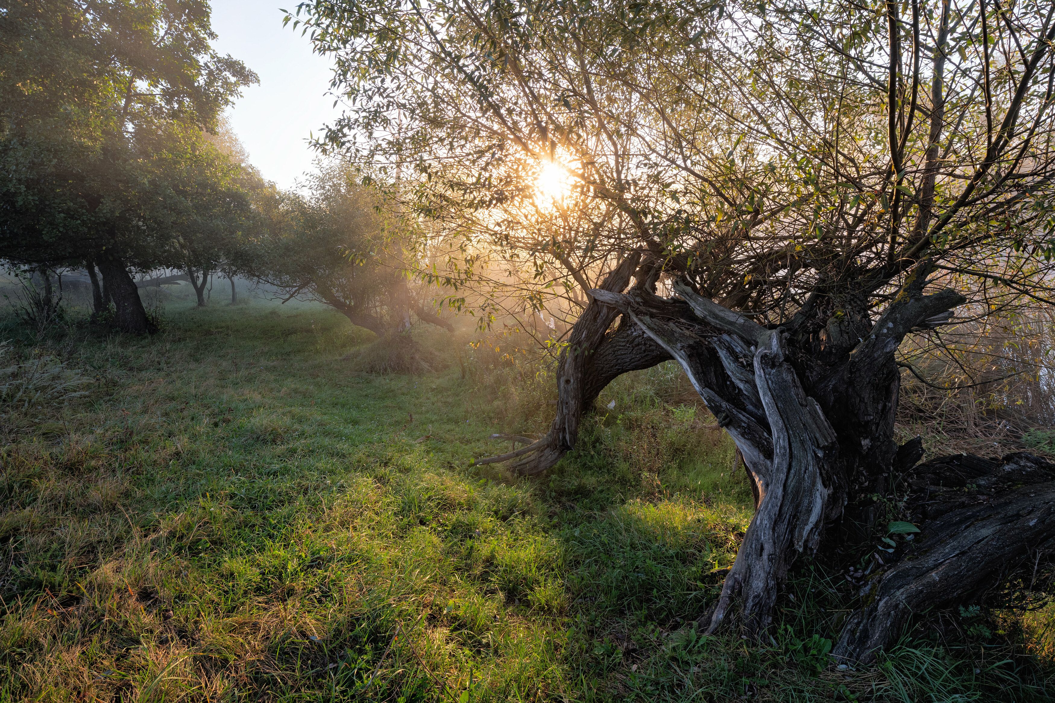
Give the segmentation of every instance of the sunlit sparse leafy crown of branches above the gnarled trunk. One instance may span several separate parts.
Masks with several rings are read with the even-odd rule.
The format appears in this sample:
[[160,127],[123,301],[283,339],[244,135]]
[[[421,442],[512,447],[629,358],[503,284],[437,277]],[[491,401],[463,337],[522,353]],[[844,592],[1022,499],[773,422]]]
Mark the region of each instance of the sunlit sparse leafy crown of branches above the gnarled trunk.
[[[780,321],[813,293],[884,295],[923,256],[1032,286],[1053,246],[1048,9],[320,1],[293,21],[351,105],[325,143],[399,169],[423,214],[565,278],[644,249]],[[540,227],[510,210],[551,161],[569,193]]]

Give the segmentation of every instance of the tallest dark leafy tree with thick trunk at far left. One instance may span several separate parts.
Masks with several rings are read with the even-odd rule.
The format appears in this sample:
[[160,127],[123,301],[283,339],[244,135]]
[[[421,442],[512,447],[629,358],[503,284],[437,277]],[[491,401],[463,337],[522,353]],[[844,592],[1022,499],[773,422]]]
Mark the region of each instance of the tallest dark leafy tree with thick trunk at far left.
[[[255,81],[217,55],[204,0],[45,0],[0,16],[0,257],[98,267],[122,330],[130,268],[165,251],[142,159],[171,123],[212,129]],[[148,198],[148,199],[143,199]]]

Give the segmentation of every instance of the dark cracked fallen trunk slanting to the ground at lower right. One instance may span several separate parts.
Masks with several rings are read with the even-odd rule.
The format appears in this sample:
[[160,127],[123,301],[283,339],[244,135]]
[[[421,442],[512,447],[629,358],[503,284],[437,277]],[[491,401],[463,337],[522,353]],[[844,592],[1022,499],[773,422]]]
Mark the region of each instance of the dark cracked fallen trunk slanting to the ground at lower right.
[[900,561],[865,585],[863,607],[833,650],[839,659],[874,661],[914,613],[971,602],[1055,540],[1055,466],[1035,456],[943,457],[920,467],[910,483],[914,509],[934,518],[901,547]]

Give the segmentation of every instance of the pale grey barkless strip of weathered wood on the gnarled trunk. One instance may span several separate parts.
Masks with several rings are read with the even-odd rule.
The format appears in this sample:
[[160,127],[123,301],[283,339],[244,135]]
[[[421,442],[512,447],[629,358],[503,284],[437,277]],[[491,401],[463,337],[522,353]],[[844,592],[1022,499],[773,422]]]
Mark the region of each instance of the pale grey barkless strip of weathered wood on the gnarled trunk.
[[[684,318],[673,317],[676,307],[659,300],[593,294],[624,311],[682,365],[754,477],[759,507],[726,577],[710,629],[717,628],[736,603],[741,625],[756,638],[770,624],[779,586],[795,555],[814,551],[824,521],[842,509],[845,479],[832,470],[840,466],[832,456],[837,436],[817,402],[803,392],[785,358],[780,330],[767,330],[728,310],[723,313],[685,286],[678,292],[693,313],[706,316],[702,321],[707,327],[692,329]],[[708,336],[713,328],[740,339],[713,331]],[[752,341],[757,345],[753,353],[748,346]],[[752,368],[743,366],[744,356],[751,357]],[[716,367],[728,383],[720,382]],[[738,394],[740,404],[720,391]]]

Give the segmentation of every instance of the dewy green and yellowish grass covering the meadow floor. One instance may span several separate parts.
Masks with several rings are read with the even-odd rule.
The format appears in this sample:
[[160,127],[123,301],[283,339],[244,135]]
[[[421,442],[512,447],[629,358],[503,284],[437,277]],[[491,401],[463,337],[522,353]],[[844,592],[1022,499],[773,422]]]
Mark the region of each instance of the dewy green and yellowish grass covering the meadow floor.
[[472,458],[544,427],[546,378],[463,374],[448,337],[446,369],[357,372],[369,336],[254,301],[42,340],[94,383],[6,416],[0,701],[1041,700],[984,645],[832,669],[808,568],[770,643],[702,634],[750,497],[669,366],[512,480]]

